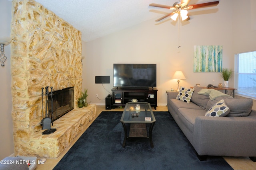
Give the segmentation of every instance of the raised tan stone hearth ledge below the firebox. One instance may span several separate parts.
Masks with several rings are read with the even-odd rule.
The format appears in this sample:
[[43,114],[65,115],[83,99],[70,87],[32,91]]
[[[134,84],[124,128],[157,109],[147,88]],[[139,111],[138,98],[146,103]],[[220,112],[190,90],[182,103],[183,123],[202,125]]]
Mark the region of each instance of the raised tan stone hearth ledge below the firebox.
[[68,112],[53,122],[52,128],[57,129],[54,133],[42,135],[45,130],[40,130],[31,136],[30,149],[26,156],[57,158],[95,116],[96,105],[92,104]]

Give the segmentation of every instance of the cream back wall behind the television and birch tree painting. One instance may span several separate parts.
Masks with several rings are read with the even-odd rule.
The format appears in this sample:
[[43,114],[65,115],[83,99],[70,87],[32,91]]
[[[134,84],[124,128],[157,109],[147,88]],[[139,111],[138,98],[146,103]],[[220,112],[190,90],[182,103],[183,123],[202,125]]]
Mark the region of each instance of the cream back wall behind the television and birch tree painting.
[[196,12],[202,9],[191,10],[191,20],[180,30],[180,48],[177,48],[178,23],[168,20],[158,24],[155,19],[86,43],[82,86],[88,88],[88,99],[104,105],[96,94],[104,99],[108,92],[102,84],[95,84],[95,76],[110,76],[110,84],[104,84],[110,91],[113,87],[113,63],[156,63],[158,105],[166,105],[166,90],[177,88],[177,81],[171,79],[176,70],[182,70],[186,76],[186,80],[180,81],[181,86],[218,86],[218,83],[223,83],[220,73],[193,72],[193,48],[194,45],[223,45],[223,67],[233,69],[231,1],[220,1],[218,10],[210,10],[213,12],[210,14]]

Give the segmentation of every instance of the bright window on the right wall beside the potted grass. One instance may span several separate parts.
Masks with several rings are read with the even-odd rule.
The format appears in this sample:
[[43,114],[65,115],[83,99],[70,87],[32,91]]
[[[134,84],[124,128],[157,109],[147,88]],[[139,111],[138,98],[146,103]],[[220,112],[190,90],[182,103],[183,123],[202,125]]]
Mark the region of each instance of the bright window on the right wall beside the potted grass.
[[237,94],[256,98],[256,51],[235,55],[234,82]]

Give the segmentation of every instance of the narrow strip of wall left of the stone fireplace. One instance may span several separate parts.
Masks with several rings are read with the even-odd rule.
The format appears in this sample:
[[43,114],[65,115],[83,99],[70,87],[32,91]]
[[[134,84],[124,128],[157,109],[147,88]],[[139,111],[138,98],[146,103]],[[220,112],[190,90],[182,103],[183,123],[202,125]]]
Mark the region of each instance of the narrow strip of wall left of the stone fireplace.
[[[11,10],[12,2],[0,0],[0,37],[10,37],[11,33]],[[10,45],[4,48],[7,57],[5,66],[0,66],[0,160],[14,153],[12,136],[12,94],[11,94],[11,71],[10,71]]]

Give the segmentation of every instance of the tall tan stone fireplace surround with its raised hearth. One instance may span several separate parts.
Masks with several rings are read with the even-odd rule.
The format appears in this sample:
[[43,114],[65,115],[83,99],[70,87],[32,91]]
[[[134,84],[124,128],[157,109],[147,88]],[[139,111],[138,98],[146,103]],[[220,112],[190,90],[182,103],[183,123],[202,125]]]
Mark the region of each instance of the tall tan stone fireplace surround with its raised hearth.
[[[78,108],[82,90],[81,32],[34,0],[12,1],[11,76],[14,154],[56,158],[95,116]],[[74,88],[74,109],[42,135],[42,91]],[[75,116],[75,117],[74,117]],[[68,122],[68,123],[67,123]]]

